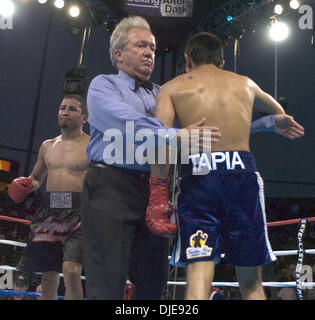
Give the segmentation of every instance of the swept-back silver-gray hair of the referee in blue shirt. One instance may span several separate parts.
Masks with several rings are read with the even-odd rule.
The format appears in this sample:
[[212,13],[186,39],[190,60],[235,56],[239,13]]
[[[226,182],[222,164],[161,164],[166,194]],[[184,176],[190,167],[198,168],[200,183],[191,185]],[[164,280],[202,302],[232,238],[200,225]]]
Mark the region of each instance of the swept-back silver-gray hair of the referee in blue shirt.
[[127,33],[132,28],[147,30],[152,33],[147,20],[139,16],[132,16],[122,19],[115,27],[110,37],[109,55],[114,67],[117,68],[117,61],[115,58],[115,51],[122,50],[128,43]]

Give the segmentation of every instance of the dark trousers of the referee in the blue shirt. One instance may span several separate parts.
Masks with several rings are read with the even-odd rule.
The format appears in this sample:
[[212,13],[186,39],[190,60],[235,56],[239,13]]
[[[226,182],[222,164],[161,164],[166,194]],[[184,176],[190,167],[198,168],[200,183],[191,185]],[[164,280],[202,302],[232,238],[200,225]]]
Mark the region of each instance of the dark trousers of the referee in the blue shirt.
[[161,299],[168,240],[145,225],[149,173],[92,163],[81,197],[87,299],[123,300],[127,276],[135,299]]

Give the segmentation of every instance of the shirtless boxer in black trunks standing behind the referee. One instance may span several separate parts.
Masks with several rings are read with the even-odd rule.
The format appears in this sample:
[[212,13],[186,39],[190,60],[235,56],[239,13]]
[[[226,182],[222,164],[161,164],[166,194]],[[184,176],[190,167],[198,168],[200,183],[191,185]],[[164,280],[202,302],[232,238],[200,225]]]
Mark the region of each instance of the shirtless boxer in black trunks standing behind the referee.
[[80,192],[88,167],[89,136],[82,131],[87,117],[85,100],[66,95],[58,112],[61,135],[42,143],[31,175],[15,179],[9,188],[10,197],[22,202],[47,176],[46,192],[17,265],[21,271],[42,272],[43,300],[57,299],[61,271],[65,299],[83,298]]

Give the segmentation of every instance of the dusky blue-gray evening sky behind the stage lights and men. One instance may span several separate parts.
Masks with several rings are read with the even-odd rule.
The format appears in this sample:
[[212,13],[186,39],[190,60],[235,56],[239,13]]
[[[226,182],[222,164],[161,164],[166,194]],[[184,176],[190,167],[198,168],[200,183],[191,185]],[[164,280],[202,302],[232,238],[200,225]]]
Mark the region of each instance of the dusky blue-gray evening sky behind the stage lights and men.
[[[50,13],[52,23],[47,33]],[[311,45],[312,31],[299,29],[299,17],[301,14],[292,13],[283,18],[290,26],[290,35],[278,45],[278,95],[286,97],[287,113],[304,126],[306,135],[296,141],[273,133],[252,135],[251,149],[265,180],[267,197],[313,198],[315,192],[315,48]],[[37,102],[30,168],[43,140],[59,134],[57,110],[65,72],[78,65],[82,37],[73,38],[66,32],[69,18],[65,10],[37,1],[17,1],[13,19],[13,30],[0,30],[0,157],[20,161],[19,174],[23,175]],[[165,28],[162,21],[161,30]],[[180,35],[187,22],[173,23],[170,28]],[[84,58],[87,87],[96,75],[116,72],[108,54],[109,36],[104,25],[92,28]],[[162,43],[165,39],[157,35],[157,40]],[[273,95],[275,45],[267,26],[260,26],[254,34],[245,33],[239,43],[237,72]],[[228,70],[234,69],[233,50],[234,42],[230,41],[225,47]],[[161,55],[157,57],[152,79],[159,84],[172,77],[172,53],[165,56],[165,63],[161,81]]]

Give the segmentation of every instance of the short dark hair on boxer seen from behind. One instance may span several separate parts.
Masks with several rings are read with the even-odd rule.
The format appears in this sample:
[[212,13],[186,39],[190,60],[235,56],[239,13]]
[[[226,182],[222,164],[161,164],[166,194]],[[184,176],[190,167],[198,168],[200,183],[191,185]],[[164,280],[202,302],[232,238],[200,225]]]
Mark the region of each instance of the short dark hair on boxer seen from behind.
[[218,67],[223,61],[223,42],[212,33],[199,32],[188,39],[185,53],[196,66],[213,63]]

